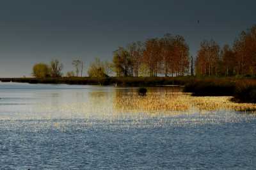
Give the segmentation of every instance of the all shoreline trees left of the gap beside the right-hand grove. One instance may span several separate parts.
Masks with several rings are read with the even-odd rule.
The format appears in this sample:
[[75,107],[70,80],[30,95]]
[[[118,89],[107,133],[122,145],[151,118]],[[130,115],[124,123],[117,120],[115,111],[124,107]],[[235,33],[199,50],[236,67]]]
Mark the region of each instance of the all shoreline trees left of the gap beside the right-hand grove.
[[[52,66],[55,63],[56,66]],[[83,61],[72,61],[75,71],[67,72],[67,77],[83,77]],[[37,63],[33,75],[38,78],[61,77],[63,65],[57,59],[50,65]],[[53,71],[54,70],[54,71]],[[58,73],[56,73],[58,71]],[[150,38],[145,42],[133,42],[126,48],[118,47],[113,52],[113,61],[90,63],[89,77],[139,77],[157,75],[181,76],[189,72],[189,47],[183,36],[164,35],[163,38]]]

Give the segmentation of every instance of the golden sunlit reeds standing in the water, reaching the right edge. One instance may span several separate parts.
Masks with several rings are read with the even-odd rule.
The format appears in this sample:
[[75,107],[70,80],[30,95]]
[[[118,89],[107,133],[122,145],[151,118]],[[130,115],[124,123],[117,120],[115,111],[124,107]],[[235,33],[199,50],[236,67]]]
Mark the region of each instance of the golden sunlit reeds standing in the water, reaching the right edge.
[[256,104],[238,104],[232,97],[193,97],[191,93],[148,93],[140,97],[136,93],[124,93],[115,98],[114,108],[118,112],[166,112],[232,110],[256,112]]

